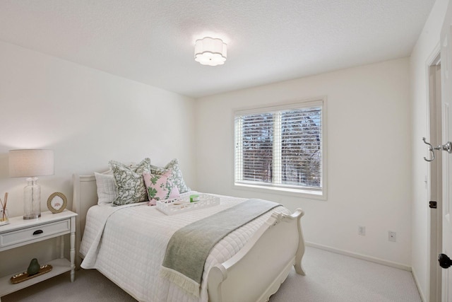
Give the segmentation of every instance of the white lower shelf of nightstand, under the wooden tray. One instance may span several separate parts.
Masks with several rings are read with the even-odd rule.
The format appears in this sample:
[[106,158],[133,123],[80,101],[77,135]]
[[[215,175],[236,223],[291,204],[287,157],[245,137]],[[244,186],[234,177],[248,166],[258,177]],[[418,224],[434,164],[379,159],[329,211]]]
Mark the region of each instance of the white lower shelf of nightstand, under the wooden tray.
[[[7,294],[11,294],[14,291],[18,291],[20,289],[25,289],[25,287],[28,287],[33,284],[37,284],[40,281],[47,280],[49,278],[55,277],[59,274],[63,274],[64,272],[69,272],[71,270],[71,262],[67,260],[66,258],[56,259],[49,261],[47,263],[44,263],[45,265],[52,265],[52,270],[50,272],[47,272],[45,274],[42,274],[38,277],[29,279],[27,281],[20,282],[18,284],[12,284],[10,281],[10,278],[14,276],[15,274],[11,274],[11,276],[0,278],[0,296],[6,296]],[[43,265],[44,265],[43,264]],[[22,272],[25,272],[27,268]],[[17,272],[19,274],[21,272]]]

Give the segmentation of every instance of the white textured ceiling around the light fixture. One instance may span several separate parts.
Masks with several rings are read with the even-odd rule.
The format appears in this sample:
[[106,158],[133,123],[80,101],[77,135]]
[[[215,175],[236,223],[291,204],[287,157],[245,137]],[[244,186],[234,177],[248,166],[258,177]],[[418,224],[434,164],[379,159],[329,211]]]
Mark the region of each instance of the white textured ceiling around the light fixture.
[[[1,0],[0,40],[198,98],[407,57],[434,0]],[[222,66],[194,41],[227,42]]]

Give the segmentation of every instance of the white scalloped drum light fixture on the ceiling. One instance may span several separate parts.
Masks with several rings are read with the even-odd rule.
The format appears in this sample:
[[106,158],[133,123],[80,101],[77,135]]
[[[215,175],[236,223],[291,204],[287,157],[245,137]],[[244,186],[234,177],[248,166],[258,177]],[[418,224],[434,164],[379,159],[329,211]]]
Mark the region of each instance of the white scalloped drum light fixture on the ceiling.
[[225,64],[226,43],[219,38],[203,37],[195,42],[195,61],[203,65],[217,66]]

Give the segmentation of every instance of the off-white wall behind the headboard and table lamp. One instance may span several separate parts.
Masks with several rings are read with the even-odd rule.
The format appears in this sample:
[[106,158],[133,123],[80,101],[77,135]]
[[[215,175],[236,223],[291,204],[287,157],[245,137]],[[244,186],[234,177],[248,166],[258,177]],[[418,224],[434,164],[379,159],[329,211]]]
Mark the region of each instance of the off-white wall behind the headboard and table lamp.
[[[42,211],[53,192],[65,194],[71,209],[72,174],[106,170],[110,159],[165,165],[179,158],[196,187],[194,100],[4,42],[0,66],[0,197],[9,192],[11,216],[23,214],[26,182],[8,177],[10,149],[54,150],[54,175],[39,179]],[[32,256],[51,257],[49,245]],[[13,261],[0,261],[0,275],[32,258],[17,250],[1,257]]]

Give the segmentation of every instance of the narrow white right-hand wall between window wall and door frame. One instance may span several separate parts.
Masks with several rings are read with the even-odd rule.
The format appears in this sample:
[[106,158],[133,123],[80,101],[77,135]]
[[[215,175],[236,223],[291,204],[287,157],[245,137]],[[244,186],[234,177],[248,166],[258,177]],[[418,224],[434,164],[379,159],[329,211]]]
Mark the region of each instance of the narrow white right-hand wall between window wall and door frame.
[[[437,0],[410,57],[410,93],[412,132],[412,271],[420,293],[429,296],[429,208],[427,204],[427,148],[422,137],[428,137],[428,65],[439,50],[439,34],[449,0]],[[436,257],[435,255],[432,257]]]

